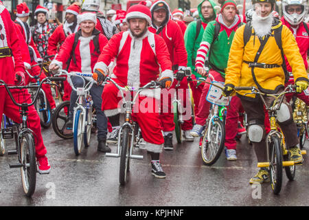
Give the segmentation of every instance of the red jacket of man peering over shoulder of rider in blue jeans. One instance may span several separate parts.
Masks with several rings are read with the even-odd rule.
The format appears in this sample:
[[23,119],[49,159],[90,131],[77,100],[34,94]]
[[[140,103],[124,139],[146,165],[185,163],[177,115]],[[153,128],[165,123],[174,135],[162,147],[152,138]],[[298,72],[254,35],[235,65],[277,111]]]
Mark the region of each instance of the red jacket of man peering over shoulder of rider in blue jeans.
[[76,25],[74,32],[72,32],[70,28],[66,28],[66,25],[64,24],[59,25],[48,39],[48,45],[47,45],[48,56],[56,55],[62,43],[65,42],[67,36],[69,36],[69,34],[77,32],[77,30],[78,25]]

